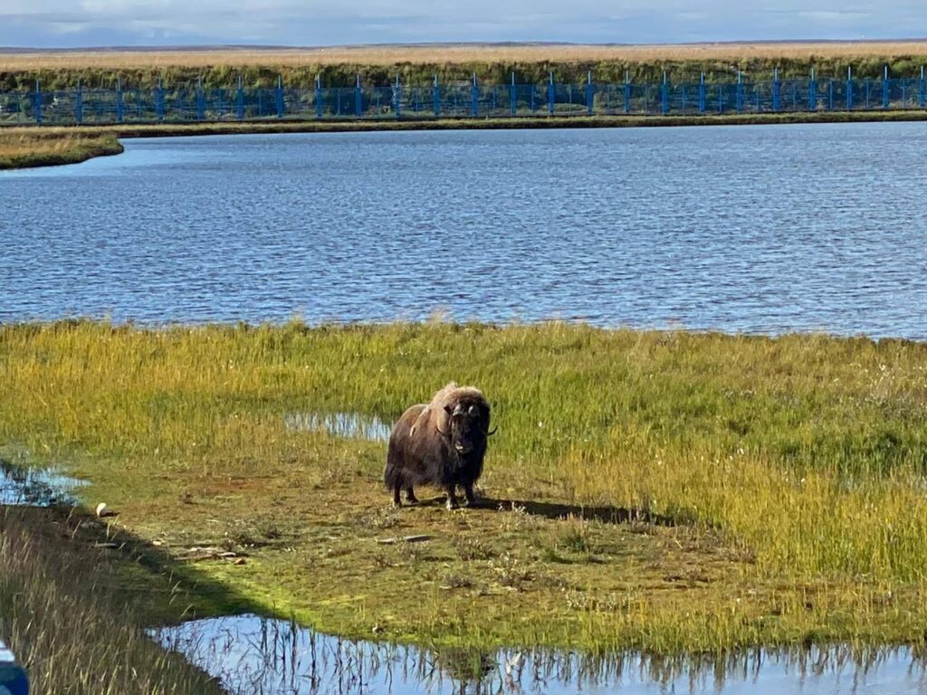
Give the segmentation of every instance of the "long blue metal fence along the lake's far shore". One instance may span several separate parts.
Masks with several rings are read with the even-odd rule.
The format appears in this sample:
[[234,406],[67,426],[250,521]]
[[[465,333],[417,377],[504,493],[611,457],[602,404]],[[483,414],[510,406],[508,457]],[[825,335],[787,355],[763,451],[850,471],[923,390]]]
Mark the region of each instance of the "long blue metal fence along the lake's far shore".
[[924,70],[919,77],[805,80],[602,84],[591,74],[578,83],[427,85],[396,82],[365,86],[358,77],[350,87],[286,85],[247,88],[241,78],[227,89],[160,84],[154,89],[86,89],[0,92],[0,125],[106,123],[184,123],[227,120],[511,118],[593,115],[698,115],[803,111],[892,110],[927,108]]

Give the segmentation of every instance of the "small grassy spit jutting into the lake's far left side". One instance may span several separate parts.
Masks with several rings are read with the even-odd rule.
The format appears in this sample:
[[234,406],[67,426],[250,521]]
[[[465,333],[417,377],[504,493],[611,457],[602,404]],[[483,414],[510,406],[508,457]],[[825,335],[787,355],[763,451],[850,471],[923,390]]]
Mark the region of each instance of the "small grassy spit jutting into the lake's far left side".
[[121,151],[114,133],[66,128],[0,129],[0,170],[76,164]]

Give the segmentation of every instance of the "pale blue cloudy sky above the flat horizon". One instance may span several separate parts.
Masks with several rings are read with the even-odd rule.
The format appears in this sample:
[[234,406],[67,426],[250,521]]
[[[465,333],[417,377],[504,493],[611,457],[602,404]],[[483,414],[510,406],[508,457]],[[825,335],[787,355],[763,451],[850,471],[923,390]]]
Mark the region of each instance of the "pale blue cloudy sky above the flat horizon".
[[0,46],[920,38],[923,0],[0,0]]

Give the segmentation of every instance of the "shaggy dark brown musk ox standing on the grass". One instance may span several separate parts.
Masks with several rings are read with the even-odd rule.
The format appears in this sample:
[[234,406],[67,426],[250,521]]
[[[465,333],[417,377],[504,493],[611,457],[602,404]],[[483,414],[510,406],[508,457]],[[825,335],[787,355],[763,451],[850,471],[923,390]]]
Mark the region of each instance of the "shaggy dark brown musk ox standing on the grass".
[[456,509],[455,487],[464,487],[466,503],[476,503],[473,485],[483,472],[489,432],[489,402],[476,388],[446,385],[430,403],[413,405],[389,435],[384,482],[400,507],[400,491],[413,504],[414,486],[430,484],[448,493],[448,509]]

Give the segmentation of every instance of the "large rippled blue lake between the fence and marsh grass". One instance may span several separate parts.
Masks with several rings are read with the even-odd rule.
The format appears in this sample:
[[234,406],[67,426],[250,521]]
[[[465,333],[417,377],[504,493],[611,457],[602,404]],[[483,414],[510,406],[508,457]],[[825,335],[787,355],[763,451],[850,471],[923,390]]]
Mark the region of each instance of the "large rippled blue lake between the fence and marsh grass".
[[927,124],[128,140],[0,174],[0,322],[927,338]]

